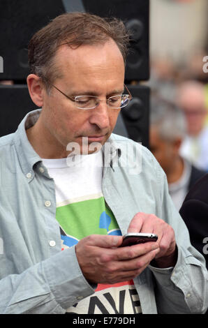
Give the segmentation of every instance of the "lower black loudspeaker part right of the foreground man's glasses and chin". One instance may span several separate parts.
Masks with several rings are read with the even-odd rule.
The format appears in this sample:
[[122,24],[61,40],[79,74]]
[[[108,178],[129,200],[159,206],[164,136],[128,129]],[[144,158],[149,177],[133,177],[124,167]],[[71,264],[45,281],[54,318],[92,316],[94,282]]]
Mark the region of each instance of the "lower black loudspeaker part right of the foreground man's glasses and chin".
[[114,133],[129,137],[149,147],[149,98],[150,89],[143,85],[127,85],[133,100],[120,112]]

